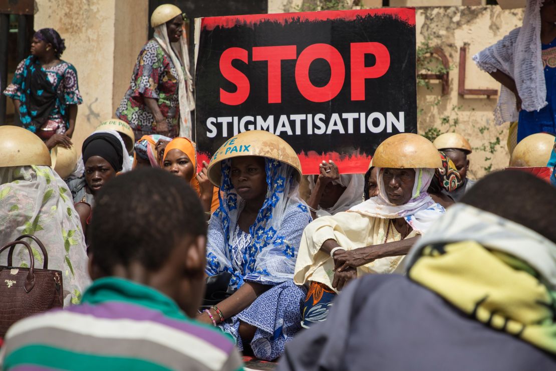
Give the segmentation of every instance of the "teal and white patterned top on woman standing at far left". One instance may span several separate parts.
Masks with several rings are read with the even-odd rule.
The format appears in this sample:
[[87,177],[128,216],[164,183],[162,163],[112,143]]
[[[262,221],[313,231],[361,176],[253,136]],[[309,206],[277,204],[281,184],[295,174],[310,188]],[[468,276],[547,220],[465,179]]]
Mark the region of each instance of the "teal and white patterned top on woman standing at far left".
[[33,56],[27,57],[17,66],[12,83],[4,90],[4,95],[19,100],[19,118],[23,127],[32,132],[36,132],[38,127],[33,125],[33,113],[27,110],[27,96],[31,93],[31,87],[25,85],[25,80],[29,71],[40,68],[46,73],[47,80],[52,83],[56,92],[54,108],[48,116],[48,121],[58,126],[57,133],[63,133],[69,128],[68,105],[80,105],[83,102],[79,86],[77,83],[77,71],[70,63],[61,61],[56,66],[44,68]]

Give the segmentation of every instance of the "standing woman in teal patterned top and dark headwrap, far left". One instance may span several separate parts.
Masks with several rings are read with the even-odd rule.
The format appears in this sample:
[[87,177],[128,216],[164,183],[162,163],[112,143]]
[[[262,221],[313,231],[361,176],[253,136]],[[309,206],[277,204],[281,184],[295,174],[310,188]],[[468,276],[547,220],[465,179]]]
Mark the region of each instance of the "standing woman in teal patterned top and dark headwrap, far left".
[[4,90],[23,127],[36,133],[49,150],[57,144],[72,145],[77,105],[83,102],[75,67],[60,59],[64,50],[64,39],[55,29],[39,29],[33,35],[31,55],[19,63]]

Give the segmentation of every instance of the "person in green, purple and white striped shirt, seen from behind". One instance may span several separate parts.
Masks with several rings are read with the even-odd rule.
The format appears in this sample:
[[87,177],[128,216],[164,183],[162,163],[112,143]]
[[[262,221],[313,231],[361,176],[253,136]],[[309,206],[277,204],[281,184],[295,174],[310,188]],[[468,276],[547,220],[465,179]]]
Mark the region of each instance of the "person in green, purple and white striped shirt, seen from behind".
[[3,369],[242,369],[234,341],[192,319],[206,223],[185,181],[160,169],[116,177],[95,198],[91,231],[93,284],[81,304],[14,324]]

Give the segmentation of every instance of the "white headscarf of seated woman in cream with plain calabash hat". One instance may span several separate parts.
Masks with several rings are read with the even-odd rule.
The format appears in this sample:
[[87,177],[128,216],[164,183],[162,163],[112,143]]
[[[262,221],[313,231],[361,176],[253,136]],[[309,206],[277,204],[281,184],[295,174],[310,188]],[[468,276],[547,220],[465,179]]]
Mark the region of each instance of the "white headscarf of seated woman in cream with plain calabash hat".
[[403,205],[394,205],[388,200],[384,185],[384,169],[381,167],[378,169],[379,195],[371,197],[347,211],[383,219],[403,217],[419,233],[423,233],[440,215],[444,214],[444,207],[436,204],[426,192],[433,179],[435,169],[414,169],[415,182],[411,199]]

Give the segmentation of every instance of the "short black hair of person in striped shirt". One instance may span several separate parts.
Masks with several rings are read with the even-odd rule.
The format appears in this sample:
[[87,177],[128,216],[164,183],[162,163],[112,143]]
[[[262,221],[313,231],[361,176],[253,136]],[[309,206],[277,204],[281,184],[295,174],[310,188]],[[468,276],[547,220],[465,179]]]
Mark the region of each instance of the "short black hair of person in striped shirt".
[[116,176],[98,192],[90,225],[95,265],[110,275],[114,266],[138,261],[157,271],[178,241],[206,236],[205,213],[196,192],[162,169],[137,169]]

